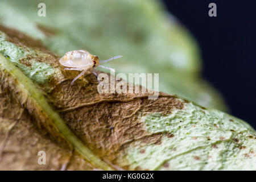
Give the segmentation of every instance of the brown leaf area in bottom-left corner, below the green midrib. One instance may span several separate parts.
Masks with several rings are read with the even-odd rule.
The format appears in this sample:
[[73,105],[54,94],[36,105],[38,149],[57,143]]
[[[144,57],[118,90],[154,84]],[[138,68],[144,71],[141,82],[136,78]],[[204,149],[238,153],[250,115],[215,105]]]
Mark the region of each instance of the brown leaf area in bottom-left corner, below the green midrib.
[[[45,165],[38,164],[39,151],[46,152]],[[35,118],[25,107],[22,108],[17,94],[11,92],[6,82],[1,82],[0,86],[0,163],[0,170],[94,168],[76,152],[53,142],[46,130],[39,129]]]

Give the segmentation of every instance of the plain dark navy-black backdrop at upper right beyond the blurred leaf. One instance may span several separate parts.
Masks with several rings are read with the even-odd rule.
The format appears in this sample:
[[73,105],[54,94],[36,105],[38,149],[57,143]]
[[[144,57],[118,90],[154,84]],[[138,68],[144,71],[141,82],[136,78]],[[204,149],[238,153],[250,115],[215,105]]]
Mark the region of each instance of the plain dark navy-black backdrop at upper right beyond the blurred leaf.
[[[256,1],[163,2],[195,36],[203,75],[223,94],[231,114],[256,129]],[[211,2],[217,17],[208,15]]]

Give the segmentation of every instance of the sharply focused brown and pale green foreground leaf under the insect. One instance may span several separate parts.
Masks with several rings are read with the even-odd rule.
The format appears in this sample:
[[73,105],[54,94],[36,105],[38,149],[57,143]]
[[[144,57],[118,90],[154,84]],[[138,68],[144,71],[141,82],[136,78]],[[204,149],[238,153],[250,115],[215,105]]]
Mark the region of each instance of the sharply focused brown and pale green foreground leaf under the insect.
[[256,169],[246,122],[164,93],[100,94],[89,72],[71,86],[59,56],[0,30],[0,169]]

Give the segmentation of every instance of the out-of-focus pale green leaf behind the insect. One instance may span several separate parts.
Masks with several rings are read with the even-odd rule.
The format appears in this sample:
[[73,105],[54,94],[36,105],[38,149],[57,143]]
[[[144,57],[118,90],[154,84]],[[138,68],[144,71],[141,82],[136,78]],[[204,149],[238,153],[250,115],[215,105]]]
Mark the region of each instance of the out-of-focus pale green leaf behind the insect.
[[45,17],[38,16],[38,3],[2,0],[0,23],[42,40],[59,55],[76,49],[101,59],[123,55],[109,63],[116,73],[160,73],[161,92],[227,110],[220,94],[201,78],[196,41],[159,1],[43,1]]

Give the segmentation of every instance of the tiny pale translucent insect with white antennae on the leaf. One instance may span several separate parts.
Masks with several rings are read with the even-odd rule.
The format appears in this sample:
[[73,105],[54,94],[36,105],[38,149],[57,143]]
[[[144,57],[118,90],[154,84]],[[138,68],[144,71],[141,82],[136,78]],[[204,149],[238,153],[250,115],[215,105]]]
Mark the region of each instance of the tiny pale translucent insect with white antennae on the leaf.
[[100,65],[101,63],[106,63],[108,61],[111,61],[113,59],[118,59],[120,57],[123,57],[121,55],[111,57],[107,60],[98,60],[98,56],[91,55],[88,51],[85,50],[77,50],[77,51],[69,51],[65,53],[63,57],[59,60],[60,64],[63,65],[65,70],[76,70],[76,71],[82,71],[77,77],[73,79],[71,82],[71,85],[81,76],[84,75],[84,73],[90,69],[94,73],[96,77],[98,77],[98,73],[96,71],[96,67],[102,67],[109,69],[110,71],[113,71],[112,68],[105,67],[103,65]]

